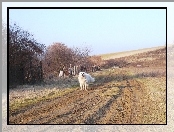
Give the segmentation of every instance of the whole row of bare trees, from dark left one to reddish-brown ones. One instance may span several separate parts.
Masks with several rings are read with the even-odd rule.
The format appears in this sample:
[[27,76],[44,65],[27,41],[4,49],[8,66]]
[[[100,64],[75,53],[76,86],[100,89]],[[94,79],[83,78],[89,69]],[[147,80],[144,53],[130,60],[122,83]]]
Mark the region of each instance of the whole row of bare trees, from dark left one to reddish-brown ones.
[[91,51],[88,47],[70,48],[59,42],[46,47],[16,23],[8,27],[7,44],[9,85],[43,82],[51,73],[59,72],[63,65],[94,65],[101,62],[100,57],[89,56]]

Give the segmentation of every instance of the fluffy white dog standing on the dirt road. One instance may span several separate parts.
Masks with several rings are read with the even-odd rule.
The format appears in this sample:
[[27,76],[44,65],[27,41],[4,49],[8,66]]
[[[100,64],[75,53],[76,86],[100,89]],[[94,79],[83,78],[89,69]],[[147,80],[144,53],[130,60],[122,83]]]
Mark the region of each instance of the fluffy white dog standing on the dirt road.
[[91,75],[87,74],[86,72],[80,72],[78,76],[78,80],[80,83],[81,90],[87,90],[89,83],[92,83],[95,81],[94,78],[91,77]]

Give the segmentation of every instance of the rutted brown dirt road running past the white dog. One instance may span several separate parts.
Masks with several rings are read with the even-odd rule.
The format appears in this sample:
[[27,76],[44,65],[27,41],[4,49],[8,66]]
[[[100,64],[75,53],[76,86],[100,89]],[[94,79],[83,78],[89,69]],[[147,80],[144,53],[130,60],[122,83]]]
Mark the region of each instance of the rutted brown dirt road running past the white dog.
[[[10,124],[145,123],[144,116],[151,104],[145,104],[144,90],[136,79],[112,82],[106,79],[104,84],[91,85],[87,91],[74,89],[61,97],[10,112]],[[158,120],[154,123],[157,122],[160,123]]]

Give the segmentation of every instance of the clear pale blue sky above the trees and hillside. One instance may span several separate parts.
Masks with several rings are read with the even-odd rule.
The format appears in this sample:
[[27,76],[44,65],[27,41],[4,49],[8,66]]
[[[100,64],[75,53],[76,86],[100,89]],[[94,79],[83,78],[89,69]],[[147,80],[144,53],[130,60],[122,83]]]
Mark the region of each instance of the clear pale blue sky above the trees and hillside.
[[[134,4],[134,7],[142,6],[141,3]],[[39,6],[56,7],[56,4],[58,5],[58,2],[50,5],[40,3]],[[4,5],[7,7],[9,4],[2,5],[4,9]],[[32,5],[38,6],[32,2],[25,4],[25,6]],[[84,6],[80,3],[75,5]],[[94,5],[95,3],[89,4],[89,6]],[[128,2],[124,4],[129,7],[131,5],[133,4]],[[161,4],[163,7],[169,5],[170,3]],[[110,4],[105,3],[106,6]],[[172,6],[169,7],[167,26],[168,29],[169,27],[173,29],[174,12]],[[53,42],[62,42],[68,47],[88,46],[92,50],[91,55],[163,46],[166,43],[165,9],[10,9],[9,18],[11,23],[16,22],[46,46]],[[173,30],[168,30],[167,39],[170,44],[174,41],[173,34]]]

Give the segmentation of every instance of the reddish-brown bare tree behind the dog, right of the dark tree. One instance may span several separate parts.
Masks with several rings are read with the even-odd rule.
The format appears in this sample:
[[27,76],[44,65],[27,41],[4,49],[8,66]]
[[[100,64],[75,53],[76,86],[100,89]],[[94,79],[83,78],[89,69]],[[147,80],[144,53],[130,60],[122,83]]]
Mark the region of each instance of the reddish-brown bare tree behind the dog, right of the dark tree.
[[[63,43],[53,43],[48,46],[45,52],[43,70],[44,77],[49,78],[49,76],[55,75],[54,73],[59,73],[62,66],[65,66],[66,71],[70,65],[73,69],[80,64],[89,64],[89,52],[90,49],[73,47],[69,48]],[[75,71],[74,73],[78,73]]]

